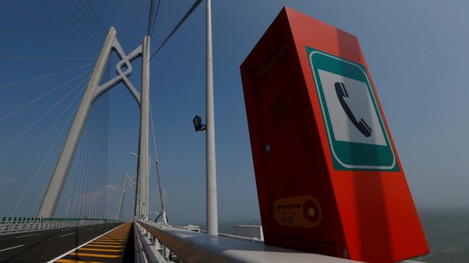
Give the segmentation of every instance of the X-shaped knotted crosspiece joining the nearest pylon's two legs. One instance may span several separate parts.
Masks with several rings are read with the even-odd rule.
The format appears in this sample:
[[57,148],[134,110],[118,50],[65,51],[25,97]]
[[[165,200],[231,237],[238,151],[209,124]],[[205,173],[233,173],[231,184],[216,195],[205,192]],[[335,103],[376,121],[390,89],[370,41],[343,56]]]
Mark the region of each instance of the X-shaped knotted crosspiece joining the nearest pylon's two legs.
[[[122,49],[121,45],[119,44],[119,40],[114,38],[114,42],[112,43],[112,50],[117,53],[120,57],[120,61],[116,64],[116,72],[117,76],[110,79],[108,82],[98,86],[95,89],[95,94],[93,94],[92,101],[95,101],[99,96],[104,94],[104,92],[112,89],[114,86],[119,84],[120,82],[124,82],[124,85],[129,90],[130,94],[134,96],[136,103],[140,105],[140,92],[135,89],[134,84],[132,84],[129,80],[129,76],[132,74],[132,65],[131,62],[135,60],[137,57],[141,57],[142,55],[142,46],[136,47],[134,51],[130,52],[129,55],[125,55],[124,50]],[[110,59],[110,57],[109,57]],[[122,71],[123,67],[126,67],[125,72]]]

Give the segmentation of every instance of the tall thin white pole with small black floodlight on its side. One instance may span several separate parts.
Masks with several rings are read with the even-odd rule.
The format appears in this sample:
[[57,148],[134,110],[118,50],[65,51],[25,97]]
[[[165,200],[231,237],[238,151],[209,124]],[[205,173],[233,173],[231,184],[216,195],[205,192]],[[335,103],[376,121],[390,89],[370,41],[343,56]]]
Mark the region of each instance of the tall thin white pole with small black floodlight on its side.
[[213,63],[212,63],[212,6],[207,0],[207,64],[205,75],[205,130],[206,158],[207,158],[207,233],[218,235],[217,213],[217,171],[215,163],[215,114],[213,101]]

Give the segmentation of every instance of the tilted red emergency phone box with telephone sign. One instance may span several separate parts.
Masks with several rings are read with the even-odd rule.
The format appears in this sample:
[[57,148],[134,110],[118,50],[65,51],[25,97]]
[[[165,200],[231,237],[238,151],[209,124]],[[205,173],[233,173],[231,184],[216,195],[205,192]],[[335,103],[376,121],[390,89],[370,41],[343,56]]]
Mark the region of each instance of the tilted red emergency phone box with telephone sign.
[[266,244],[365,262],[428,253],[355,35],[284,8],[241,73]]

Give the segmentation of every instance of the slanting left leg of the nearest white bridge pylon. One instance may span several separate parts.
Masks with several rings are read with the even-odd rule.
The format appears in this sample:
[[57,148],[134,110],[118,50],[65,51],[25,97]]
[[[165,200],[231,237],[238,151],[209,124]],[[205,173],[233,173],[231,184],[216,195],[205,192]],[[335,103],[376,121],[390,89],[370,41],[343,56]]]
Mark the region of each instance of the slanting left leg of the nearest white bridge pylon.
[[65,140],[65,145],[63,146],[62,152],[60,152],[57,164],[55,164],[54,172],[50,178],[48,189],[45,192],[45,196],[38,213],[38,217],[40,218],[50,218],[55,213],[55,208],[57,208],[60,194],[62,194],[65,179],[67,179],[68,171],[70,170],[70,164],[72,164],[78,142],[80,142],[80,137],[88,118],[88,113],[90,113],[95,89],[101,82],[102,74],[104,74],[104,69],[109,55],[111,54],[112,43],[114,42],[116,35],[116,30],[113,27],[109,28],[106,39],[102,44],[95,69],[93,69],[85,94],[83,94],[82,101],[80,101],[80,106],[78,107],[75,118],[73,119],[67,140]]

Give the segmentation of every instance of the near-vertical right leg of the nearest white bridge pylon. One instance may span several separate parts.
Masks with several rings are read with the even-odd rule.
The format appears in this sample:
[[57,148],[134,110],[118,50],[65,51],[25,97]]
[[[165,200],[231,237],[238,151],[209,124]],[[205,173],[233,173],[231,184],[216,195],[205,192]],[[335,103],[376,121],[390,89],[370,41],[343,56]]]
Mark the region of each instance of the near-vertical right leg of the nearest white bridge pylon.
[[137,169],[136,216],[139,219],[148,218],[149,204],[149,117],[150,117],[150,37],[144,38],[141,47],[141,99],[140,99],[140,138],[139,165]]

